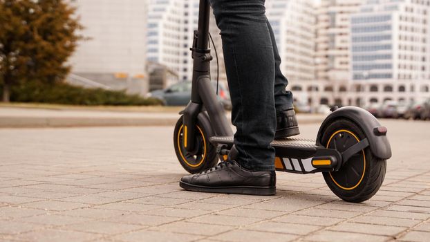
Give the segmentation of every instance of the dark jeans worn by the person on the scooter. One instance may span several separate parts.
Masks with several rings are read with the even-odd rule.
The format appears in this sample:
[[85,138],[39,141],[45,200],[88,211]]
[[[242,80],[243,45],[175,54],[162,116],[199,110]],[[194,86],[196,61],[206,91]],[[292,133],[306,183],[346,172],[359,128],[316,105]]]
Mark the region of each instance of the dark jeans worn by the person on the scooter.
[[272,27],[265,17],[264,0],[210,0],[221,30],[225,71],[236,126],[236,160],[246,169],[273,170],[270,142],[276,113],[292,108],[292,93],[281,73]]

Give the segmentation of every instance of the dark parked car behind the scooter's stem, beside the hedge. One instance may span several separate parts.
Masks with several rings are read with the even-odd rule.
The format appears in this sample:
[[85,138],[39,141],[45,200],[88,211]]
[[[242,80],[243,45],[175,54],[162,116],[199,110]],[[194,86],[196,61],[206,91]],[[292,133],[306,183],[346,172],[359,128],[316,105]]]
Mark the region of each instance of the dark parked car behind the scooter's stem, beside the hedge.
[[[218,100],[221,101],[225,109],[231,110],[232,101],[230,100],[227,85],[223,82],[218,84]],[[216,82],[212,82],[212,85],[215,91]],[[166,106],[185,106],[191,99],[191,82],[179,82],[167,87],[167,89],[152,91],[148,96],[161,100]]]

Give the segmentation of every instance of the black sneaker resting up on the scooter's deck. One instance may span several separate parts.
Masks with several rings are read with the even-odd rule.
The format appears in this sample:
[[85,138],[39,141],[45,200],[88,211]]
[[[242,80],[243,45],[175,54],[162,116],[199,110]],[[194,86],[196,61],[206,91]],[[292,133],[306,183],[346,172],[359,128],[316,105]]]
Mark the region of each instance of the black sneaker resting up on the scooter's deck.
[[287,138],[300,134],[299,124],[297,123],[294,109],[288,109],[277,113],[277,131],[274,139]]

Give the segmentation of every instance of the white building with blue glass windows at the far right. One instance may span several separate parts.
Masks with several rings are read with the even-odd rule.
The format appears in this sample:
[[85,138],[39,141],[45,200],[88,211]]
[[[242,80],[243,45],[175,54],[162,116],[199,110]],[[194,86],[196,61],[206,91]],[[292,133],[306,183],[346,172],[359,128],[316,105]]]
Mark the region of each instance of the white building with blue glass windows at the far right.
[[351,35],[353,104],[430,96],[429,0],[368,0]]

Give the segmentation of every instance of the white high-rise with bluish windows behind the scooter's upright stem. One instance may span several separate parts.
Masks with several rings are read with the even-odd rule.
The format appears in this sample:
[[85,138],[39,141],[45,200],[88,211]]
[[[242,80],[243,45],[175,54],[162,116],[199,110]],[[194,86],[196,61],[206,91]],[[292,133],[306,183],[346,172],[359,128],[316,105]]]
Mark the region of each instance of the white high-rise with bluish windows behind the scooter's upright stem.
[[[148,13],[147,59],[176,71],[180,81],[191,80],[193,61],[191,48],[194,30],[198,28],[199,0],[150,0]],[[226,81],[221,36],[213,15],[210,32],[218,50],[220,80]],[[212,46],[212,43],[211,43]],[[216,79],[216,59],[211,63],[212,79]]]

